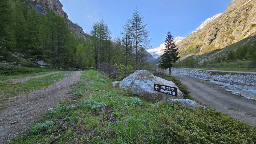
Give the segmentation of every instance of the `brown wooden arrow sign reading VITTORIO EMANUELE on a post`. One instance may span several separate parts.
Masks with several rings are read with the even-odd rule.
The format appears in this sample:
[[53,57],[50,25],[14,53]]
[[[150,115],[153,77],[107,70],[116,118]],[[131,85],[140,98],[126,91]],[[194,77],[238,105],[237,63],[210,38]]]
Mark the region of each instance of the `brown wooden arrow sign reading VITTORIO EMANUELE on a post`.
[[163,95],[163,97],[164,97],[163,101],[164,102],[167,102],[166,94],[176,96],[176,97],[178,96],[178,88],[176,88],[176,87],[154,84],[154,90],[157,91],[157,92],[164,93],[164,95]]

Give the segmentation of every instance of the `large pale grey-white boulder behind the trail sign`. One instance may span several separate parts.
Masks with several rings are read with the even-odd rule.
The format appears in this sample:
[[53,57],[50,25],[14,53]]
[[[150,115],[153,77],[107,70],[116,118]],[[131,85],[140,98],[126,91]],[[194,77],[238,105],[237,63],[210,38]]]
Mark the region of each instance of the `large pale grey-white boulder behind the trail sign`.
[[[149,100],[163,100],[163,93],[154,91],[154,83],[177,87],[172,81],[154,76],[149,71],[137,70],[133,74],[124,78],[119,83],[120,88],[131,89],[134,94]],[[167,95],[167,99],[183,99],[183,94],[178,88],[178,96]]]

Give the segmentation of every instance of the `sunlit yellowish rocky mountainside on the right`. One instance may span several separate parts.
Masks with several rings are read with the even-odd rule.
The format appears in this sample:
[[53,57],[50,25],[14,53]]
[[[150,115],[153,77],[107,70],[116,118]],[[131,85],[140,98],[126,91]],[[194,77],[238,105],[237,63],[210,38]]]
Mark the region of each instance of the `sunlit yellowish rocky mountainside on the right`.
[[256,35],[256,0],[233,0],[227,9],[177,44],[181,58],[222,49]]

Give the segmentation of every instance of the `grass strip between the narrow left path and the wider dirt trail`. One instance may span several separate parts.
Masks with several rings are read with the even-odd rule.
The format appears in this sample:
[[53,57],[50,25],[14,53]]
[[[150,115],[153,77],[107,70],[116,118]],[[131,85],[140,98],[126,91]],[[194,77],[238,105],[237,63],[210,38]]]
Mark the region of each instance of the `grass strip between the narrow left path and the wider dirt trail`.
[[41,78],[28,80],[24,83],[0,83],[0,103],[8,100],[10,97],[18,96],[22,92],[36,90],[44,86],[52,85],[58,80],[66,77],[63,75],[65,73],[71,72],[61,72],[57,74],[52,74]]

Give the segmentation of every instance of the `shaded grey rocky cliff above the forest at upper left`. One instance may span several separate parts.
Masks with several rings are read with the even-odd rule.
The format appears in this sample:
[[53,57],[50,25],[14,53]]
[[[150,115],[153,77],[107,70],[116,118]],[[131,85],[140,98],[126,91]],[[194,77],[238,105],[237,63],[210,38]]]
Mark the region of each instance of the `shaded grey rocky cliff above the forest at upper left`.
[[62,9],[63,5],[59,0],[22,0],[28,7],[35,7],[41,14],[46,14],[49,8],[52,8],[56,13],[60,14],[67,20],[68,26],[76,36],[88,37],[84,33],[83,28],[77,24],[74,24],[68,19],[67,13]]

